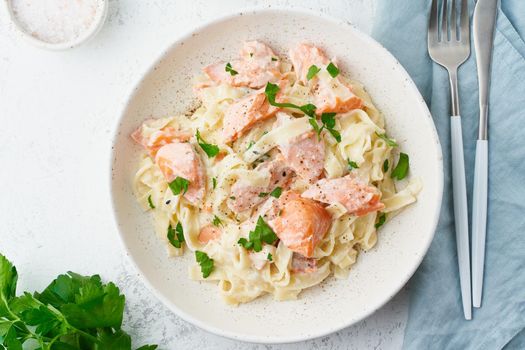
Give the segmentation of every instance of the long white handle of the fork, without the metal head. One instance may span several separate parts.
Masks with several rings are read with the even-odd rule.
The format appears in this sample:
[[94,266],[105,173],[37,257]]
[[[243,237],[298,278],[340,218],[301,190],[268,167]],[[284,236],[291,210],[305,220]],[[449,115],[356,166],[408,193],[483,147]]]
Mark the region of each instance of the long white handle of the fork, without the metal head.
[[454,198],[454,220],[456,246],[458,251],[459,281],[465,319],[472,319],[472,299],[470,293],[470,257],[468,237],[467,186],[465,181],[465,158],[463,156],[463,136],[461,117],[450,117],[452,142],[452,194]]

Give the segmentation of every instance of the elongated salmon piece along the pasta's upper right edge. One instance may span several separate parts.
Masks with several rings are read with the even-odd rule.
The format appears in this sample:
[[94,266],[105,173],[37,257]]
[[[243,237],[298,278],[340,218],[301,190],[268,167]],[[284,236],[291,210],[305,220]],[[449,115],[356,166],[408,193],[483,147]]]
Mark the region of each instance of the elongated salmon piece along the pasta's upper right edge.
[[[321,49],[309,44],[299,44],[290,50],[290,59],[297,79],[305,85],[312,84],[313,102],[318,115],[363,108],[363,101],[352,92],[352,87],[338,76],[332,77],[327,72],[326,67],[330,60]],[[309,82],[307,74],[312,65],[320,71]]]

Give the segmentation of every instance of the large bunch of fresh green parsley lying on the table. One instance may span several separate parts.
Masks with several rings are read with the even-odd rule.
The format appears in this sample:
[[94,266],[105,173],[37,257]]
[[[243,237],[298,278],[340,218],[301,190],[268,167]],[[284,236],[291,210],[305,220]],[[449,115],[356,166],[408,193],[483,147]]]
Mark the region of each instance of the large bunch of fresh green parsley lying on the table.
[[68,272],[42,292],[17,296],[17,281],[16,268],[0,254],[0,349],[131,350],[121,328],[125,297],[112,282]]

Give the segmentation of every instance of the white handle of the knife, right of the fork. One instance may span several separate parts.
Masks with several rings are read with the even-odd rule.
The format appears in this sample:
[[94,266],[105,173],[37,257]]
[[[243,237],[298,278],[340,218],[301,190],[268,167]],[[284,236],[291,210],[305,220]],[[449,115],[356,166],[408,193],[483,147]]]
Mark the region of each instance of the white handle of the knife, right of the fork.
[[488,148],[487,140],[476,142],[474,195],[472,198],[472,303],[481,306],[485,236],[487,232]]

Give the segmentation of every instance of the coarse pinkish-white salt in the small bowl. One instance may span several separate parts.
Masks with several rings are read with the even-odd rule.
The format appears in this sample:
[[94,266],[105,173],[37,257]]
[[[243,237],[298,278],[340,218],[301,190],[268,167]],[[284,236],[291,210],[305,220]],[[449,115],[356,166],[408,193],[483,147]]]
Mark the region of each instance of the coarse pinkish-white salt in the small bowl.
[[103,5],[104,0],[11,0],[22,29],[50,44],[80,37],[95,25]]

